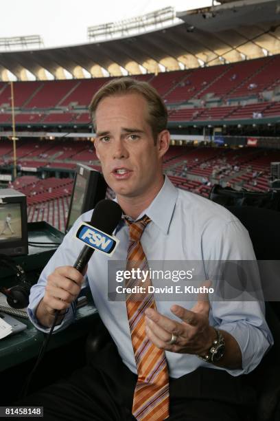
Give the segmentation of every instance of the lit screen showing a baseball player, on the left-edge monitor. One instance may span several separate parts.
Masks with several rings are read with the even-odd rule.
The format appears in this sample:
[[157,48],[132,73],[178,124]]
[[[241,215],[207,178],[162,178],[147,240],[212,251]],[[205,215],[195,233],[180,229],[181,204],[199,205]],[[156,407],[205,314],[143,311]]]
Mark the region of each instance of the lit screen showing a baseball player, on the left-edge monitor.
[[21,204],[0,204],[0,241],[14,241],[21,237]]

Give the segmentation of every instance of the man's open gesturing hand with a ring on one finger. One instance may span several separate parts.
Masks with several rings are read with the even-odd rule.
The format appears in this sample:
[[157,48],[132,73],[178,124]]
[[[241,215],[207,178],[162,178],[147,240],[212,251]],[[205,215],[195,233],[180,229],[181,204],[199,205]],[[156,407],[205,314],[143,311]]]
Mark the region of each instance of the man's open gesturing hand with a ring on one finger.
[[[215,330],[209,325],[210,304],[207,294],[200,294],[191,310],[180,305],[172,305],[170,310],[181,322],[169,319],[152,308],[145,311],[146,334],[150,341],[156,347],[171,352],[206,354],[216,337]],[[174,344],[170,344],[172,334],[176,335]]]

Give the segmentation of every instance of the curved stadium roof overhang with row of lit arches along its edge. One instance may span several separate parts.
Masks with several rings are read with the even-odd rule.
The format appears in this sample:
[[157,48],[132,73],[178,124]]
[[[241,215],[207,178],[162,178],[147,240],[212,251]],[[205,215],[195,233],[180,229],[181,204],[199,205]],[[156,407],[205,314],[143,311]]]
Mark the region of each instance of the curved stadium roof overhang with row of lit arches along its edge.
[[[0,52],[0,80],[157,73],[233,63],[280,53],[280,6],[244,0],[177,13],[180,21],[160,30],[110,41],[41,50]],[[86,73],[85,73],[86,72]]]

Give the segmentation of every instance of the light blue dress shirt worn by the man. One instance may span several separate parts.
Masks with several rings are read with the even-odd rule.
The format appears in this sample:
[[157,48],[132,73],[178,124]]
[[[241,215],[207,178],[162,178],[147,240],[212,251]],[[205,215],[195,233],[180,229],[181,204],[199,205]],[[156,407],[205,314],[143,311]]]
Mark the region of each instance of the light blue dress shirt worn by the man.
[[[92,210],[84,213],[65,236],[58,250],[45,266],[38,283],[32,287],[27,312],[30,320],[43,332],[49,329],[40,326],[36,307],[43,298],[47,276],[58,266],[72,266],[83,244],[73,235],[81,221],[91,219]],[[212,260],[254,260],[255,254],[247,230],[228,210],[204,197],[180,190],[165,177],[161,191],[142,215],[148,215],[152,222],[145,228],[141,244],[148,261],[212,261]],[[138,219],[138,218],[137,218]],[[108,301],[108,259],[126,261],[128,250],[128,227],[121,222],[115,230],[119,246],[113,257],[108,258],[95,252],[87,270],[87,279],[97,310],[112,336],[124,364],[137,374],[132,349],[125,301]],[[207,275],[205,275],[207,279]],[[155,296],[156,299],[156,296]],[[170,311],[177,303],[191,309],[194,302],[156,301],[157,310],[170,319],[177,319]],[[74,309],[70,307],[62,323],[55,331],[67,327],[74,320]],[[225,369],[205,363],[198,356],[166,351],[170,376],[178,378],[194,371],[199,366],[225,369],[233,376],[248,373],[261,361],[270,345],[272,335],[264,318],[262,301],[213,301],[209,323],[229,332],[240,345],[242,369]],[[71,327],[70,327],[71,328]]]

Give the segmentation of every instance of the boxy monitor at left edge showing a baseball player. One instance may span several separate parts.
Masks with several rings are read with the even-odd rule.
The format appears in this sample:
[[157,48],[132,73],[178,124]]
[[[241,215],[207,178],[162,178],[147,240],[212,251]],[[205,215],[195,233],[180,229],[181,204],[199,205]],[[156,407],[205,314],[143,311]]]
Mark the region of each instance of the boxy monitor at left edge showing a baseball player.
[[12,188],[0,189],[0,253],[28,254],[26,196]]

